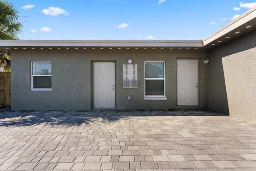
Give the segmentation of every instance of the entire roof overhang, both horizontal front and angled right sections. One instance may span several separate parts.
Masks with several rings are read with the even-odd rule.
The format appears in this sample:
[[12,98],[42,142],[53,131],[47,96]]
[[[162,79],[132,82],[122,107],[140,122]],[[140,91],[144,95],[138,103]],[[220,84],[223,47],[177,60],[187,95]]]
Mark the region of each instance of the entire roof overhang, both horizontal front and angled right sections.
[[204,40],[0,40],[13,50],[207,50],[256,29],[256,6]]

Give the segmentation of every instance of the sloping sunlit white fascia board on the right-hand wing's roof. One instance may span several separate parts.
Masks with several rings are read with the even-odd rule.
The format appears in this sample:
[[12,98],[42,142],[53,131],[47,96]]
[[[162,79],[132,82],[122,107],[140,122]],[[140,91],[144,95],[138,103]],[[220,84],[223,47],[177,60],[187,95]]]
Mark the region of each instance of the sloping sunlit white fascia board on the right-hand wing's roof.
[[254,19],[256,17],[256,6],[239,16],[238,18],[234,19],[232,22],[228,23],[226,26],[220,28],[218,31],[214,32],[207,38],[203,39],[204,46],[207,44],[210,44],[214,40],[217,40],[221,36],[224,36],[225,34],[231,32],[232,30],[238,28],[242,24],[245,24],[246,22],[249,22],[250,20]]

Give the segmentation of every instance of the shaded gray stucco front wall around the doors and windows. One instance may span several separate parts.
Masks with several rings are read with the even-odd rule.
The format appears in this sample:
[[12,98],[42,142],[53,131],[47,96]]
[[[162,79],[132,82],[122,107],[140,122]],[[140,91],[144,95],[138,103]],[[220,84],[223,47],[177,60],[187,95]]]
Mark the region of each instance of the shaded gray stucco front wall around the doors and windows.
[[[208,52],[200,50],[12,51],[12,109],[93,108],[93,62],[116,62],[116,109],[207,109]],[[138,65],[138,88],[123,88],[123,64]],[[199,106],[176,106],[176,60],[199,60]],[[31,62],[52,62],[52,91],[31,91]],[[166,62],[166,101],[144,100],[144,61]],[[131,100],[128,101],[128,95]]]

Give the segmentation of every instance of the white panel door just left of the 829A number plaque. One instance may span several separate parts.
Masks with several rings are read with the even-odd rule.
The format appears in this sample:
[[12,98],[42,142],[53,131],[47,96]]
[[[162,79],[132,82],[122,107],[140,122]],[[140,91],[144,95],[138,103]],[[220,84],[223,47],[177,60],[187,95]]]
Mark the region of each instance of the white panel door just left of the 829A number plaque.
[[115,63],[94,62],[94,108],[115,108]]

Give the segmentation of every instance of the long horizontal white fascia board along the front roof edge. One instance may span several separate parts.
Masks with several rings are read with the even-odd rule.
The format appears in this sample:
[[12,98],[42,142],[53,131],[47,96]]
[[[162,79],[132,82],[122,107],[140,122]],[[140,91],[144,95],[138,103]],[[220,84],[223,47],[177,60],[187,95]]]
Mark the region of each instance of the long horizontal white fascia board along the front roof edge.
[[202,47],[202,40],[0,40],[4,47]]

